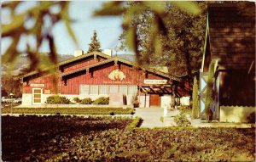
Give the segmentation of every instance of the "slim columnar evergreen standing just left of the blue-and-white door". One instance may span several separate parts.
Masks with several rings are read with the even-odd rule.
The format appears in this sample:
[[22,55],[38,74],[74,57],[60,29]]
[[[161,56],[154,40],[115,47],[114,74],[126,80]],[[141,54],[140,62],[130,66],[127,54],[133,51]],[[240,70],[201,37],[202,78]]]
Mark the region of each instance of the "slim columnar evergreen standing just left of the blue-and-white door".
[[196,76],[194,77],[194,85],[193,85],[193,106],[192,106],[192,117],[197,119],[199,117],[199,103],[198,103],[198,84]]

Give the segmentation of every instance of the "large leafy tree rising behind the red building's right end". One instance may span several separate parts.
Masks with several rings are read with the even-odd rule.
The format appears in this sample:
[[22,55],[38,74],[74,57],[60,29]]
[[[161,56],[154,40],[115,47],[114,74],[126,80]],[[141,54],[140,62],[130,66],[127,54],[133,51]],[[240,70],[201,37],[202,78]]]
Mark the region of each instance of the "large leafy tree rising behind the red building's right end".
[[[129,2],[116,11],[123,15],[121,48],[133,50],[145,68],[166,65],[172,75],[190,74],[201,64],[206,8],[204,2]],[[113,15],[106,10],[96,15]]]

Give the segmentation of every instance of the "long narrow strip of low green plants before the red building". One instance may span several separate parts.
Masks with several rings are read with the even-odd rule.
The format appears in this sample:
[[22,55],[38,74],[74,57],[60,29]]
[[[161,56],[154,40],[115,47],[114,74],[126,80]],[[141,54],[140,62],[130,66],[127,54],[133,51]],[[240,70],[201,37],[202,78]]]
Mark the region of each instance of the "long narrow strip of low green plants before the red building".
[[[3,114],[10,114],[9,108],[2,109]],[[49,114],[49,115],[132,115],[132,108],[109,108],[109,107],[88,107],[88,108],[13,108],[13,114]]]

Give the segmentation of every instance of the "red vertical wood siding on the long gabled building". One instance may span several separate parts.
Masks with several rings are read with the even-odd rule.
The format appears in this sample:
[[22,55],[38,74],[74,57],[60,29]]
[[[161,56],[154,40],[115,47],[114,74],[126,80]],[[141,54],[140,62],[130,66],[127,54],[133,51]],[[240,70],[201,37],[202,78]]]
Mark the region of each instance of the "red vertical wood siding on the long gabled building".
[[[86,64],[92,64],[94,61],[98,61],[98,59],[91,59],[89,62],[76,64],[74,66],[71,66],[67,68],[66,70],[73,70],[79,67],[82,67]],[[113,81],[108,78],[108,75],[113,70],[121,70],[125,74],[125,79],[123,81]],[[85,85],[145,85],[143,83],[144,79],[166,79],[162,78],[157,75],[153,75],[151,73],[148,73],[148,78],[145,78],[145,72],[143,70],[136,70],[130,66],[127,66],[125,64],[114,65],[114,64],[103,64],[102,66],[98,66],[96,68],[90,69],[93,71],[93,77],[91,77],[91,73],[81,74],[81,75],[75,75],[71,78],[68,78],[67,86],[64,85],[65,81],[61,81],[61,78],[59,79],[59,87],[61,88],[59,92],[61,94],[79,94],[79,85],[85,84]],[[70,76],[69,76],[70,77]],[[65,79],[65,78],[64,78]],[[30,84],[38,83],[38,84],[44,84],[43,89],[44,90],[50,90],[51,93],[54,92],[54,87],[52,84],[52,77],[50,75],[41,76],[38,78],[34,78],[28,81],[28,86],[26,86],[26,82],[23,83],[23,92],[24,93],[32,93],[32,87],[30,87]]]

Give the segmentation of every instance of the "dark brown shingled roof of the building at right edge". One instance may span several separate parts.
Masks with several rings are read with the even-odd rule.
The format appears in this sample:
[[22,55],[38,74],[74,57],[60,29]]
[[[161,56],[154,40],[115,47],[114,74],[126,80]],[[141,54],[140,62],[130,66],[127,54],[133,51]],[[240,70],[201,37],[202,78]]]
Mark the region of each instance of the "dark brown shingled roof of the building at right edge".
[[254,9],[248,11],[236,3],[208,4],[204,55],[209,46],[219,70],[250,69],[255,64],[255,4],[247,4]]

